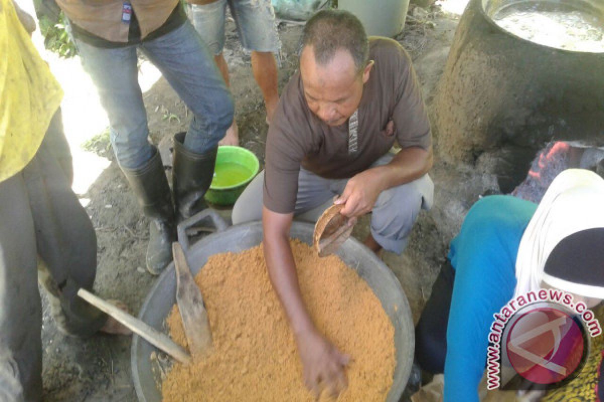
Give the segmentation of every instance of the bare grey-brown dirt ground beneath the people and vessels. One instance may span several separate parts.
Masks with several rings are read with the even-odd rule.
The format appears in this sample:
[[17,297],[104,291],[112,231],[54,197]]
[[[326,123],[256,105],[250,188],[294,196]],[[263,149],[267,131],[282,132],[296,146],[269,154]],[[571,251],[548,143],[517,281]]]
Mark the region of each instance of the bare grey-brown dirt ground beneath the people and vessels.
[[[450,1],[450,0],[449,0]],[[458,15],[435,6],[429,10],[410,8],[405,30],[397,37],[408,49],[430,107],[435,86],[445,66],[457,26]],[[281,23],[282,42],[279,88],[283,88],[297,68],[297,47],[301,27]],[[267,125],[265,108],[246,55],[231,20],[227,27],[225,56],[231,70],[236,99],[236,119],[240,145],[251,149],[264,161]],[[65,129],[74,152],[76,183],[97,233],[98,274],[95,291],[103,298],[123,300],[138,313],[155,278],[144,269],[148,224],[118,169],[106,134],[106,116],[98,105],[94,86],[83,73],[79,59],[60,60],[45,52],[53,72],[65,89],[63,113]],[[143,63],[144,72],[147,64]],[[152,69],[147,76],[153,77]],[[165,137],[186,130],[191,114],[165,80],[148,88],[143,85],[149,116],[150,137],[159,143]],[[430,108],[431,117],[437,111]],[[435,133],[435,143],[438,133]],[[82,144],[86,143],[86,146]],[[94,151],[94,152],[93,152]],[[437,149],[437,155],[439,150]],[[89,186],[82,177],[98,172]],[[480,194],[496,189],[488,169],[450,166],[437,157],[430,173],[435,183],[435,206],[422,212],[403,256],[385,253],[383,259],[399,279],[417,321],[429,297],[431,284],[446,255],[446,245],[458,230],[461,219]],[[94,176],[93,176],[94,177]],[[228,215],[228,210],[224,211]],[[362,239],[368,219],[355,229]],[[69,338],[56,330],[45,303],[43,323],[46,401],[136,401],[130,376],[130,338],[93,336]]]

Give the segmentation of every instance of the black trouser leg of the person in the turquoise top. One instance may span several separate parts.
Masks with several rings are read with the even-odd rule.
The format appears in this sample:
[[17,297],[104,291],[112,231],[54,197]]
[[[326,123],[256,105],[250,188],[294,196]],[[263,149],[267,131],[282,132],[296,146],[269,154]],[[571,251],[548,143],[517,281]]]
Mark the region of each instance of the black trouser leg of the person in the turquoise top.
[[424,371],[432,374],[445,372],[447,324],[454,280],[455,269],[446,260],[416,326],[415,358]]

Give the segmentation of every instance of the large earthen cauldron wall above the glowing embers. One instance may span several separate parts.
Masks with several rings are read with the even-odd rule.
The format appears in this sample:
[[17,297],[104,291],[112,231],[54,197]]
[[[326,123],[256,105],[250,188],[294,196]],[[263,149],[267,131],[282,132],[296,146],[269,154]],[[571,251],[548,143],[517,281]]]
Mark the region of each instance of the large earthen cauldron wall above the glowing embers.
[[[585,11],[604,24],[601,0],[539,2]],[[443,159],[474,162],[484,151],[503,149],[513,155],[504,164],[523,178],[550,140],[604,145],[604,53],[538,45],[492,19],[518,3],[467,5],[435,94],[434,123]]]

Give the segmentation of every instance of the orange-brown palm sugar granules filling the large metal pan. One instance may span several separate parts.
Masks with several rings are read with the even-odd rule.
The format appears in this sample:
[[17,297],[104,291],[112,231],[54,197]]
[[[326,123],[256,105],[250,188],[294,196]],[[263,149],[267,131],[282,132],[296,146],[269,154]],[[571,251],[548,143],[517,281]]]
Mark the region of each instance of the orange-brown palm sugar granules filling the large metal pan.
[[[370,287],[336,256],[292,240],[300,287],[321,333],[352,356],[349,387],[338,401],[384,401],[393,383],[394,328]],[[196,275],[210,317],[213,351],[191,365],[175,363],[162,385],[164,402],[315,401],[262,246],[216,254]],[[186,345],[178,307],[167,322]],[[329,400],[322,397],[321,400]]]

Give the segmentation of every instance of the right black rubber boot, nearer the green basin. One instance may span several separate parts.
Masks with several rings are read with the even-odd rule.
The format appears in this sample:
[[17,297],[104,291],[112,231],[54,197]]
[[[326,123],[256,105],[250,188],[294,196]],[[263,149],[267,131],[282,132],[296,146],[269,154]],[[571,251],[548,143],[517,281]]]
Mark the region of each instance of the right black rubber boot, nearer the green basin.
[[203,154],[191,152],[184,146],[185,133],[174,136],[173,187],[174,203],[179,221],[205,209],[205,192],[214,177],[218,147]]

